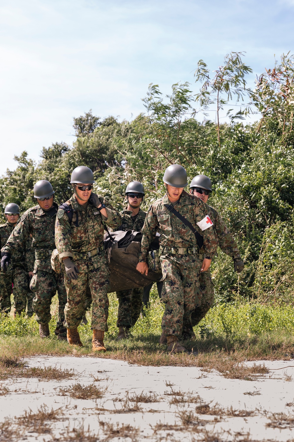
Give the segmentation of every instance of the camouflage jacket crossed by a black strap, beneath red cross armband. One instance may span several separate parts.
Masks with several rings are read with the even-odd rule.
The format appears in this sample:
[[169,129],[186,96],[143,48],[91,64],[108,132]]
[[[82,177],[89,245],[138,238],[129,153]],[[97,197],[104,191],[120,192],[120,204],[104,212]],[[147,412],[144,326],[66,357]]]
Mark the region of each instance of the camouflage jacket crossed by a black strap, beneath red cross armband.
[[[139,261],[144,262],[148,254],[149,245],[156,236],[160,234],[160,247],[168,248],[196,248],[197,240],[189,227],[184,225],[174,214],[169,212],[164,204],[171,204],[167,194],[152,204],[147,212],[145,223],[142,229],[141,251]],[[216,253],[217,238],[211,227],[201,231],[196,223],[201,221],[208,214],[208,206],[199,198],[194,198],[186,191],[182,192],[179,203],[175,205],[178,210],[198,230],[204,240],[204,252],[209,258]]]

